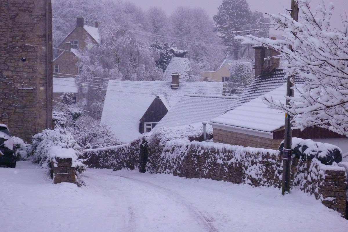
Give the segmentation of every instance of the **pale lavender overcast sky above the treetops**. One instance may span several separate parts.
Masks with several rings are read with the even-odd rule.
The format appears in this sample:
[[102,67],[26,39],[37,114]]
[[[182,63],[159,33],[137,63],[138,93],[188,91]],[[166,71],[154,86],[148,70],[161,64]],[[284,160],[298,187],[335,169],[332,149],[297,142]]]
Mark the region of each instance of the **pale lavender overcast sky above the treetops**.
[[[127,0],[125,0],[127,1]],[[152,6],[161,7],[167,14],[171,14],[177,6],[190,6],[204,8],[207,13],[213,17],[217,13],[217,7],[222,3],[222,0],[128,0],[135,5],[148,9]],[[312,0],[311,5],[317,6],[323,0]],[[277,14],[284,12],[284,7],[291,8],[291,0],[247,0],[251,10],[261,11],[263,13]],[[341,27],[341,16],[346,18],[345,10],[348,15],[348,0],[324,0],[325,3],[333,2],[335,9],[332,17],[332,26],[334,28]]]

